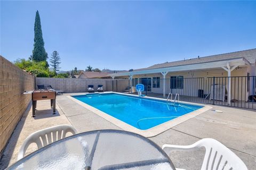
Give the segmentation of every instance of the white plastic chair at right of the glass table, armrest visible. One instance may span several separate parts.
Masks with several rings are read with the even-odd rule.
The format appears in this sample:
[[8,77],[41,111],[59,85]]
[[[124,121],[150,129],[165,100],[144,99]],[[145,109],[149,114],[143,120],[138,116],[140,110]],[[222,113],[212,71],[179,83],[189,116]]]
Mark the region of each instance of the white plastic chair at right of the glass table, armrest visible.
[[[163,150],[167,153],[171,149],[179,151],[192,151],[201,147],[205,147],[205,155],[203,160],[202,170],[205,169],[232,169],[232,170],[247,170],[244,162],[234,154],[230,149],[219,141],[211,138],[201,139],[192,145],[163,145]],[[178,168],[177,168],[178,169]]]

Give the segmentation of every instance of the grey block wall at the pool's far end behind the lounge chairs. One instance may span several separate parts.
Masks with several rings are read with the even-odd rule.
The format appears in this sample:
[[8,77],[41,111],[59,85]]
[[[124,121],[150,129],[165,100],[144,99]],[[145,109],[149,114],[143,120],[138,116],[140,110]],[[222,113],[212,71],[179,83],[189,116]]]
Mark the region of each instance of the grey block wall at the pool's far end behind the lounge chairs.
[[[87,92],[88,85],[93,85],[97,91],[98,85],[103,85],[103,89],[107,91],[106,79],[61,79],[61,78],[36,78],[36,86],[44,84],[51,85],[55,90],[63,90],[65,92]],[[37,87],[36,87],[37,88]]]

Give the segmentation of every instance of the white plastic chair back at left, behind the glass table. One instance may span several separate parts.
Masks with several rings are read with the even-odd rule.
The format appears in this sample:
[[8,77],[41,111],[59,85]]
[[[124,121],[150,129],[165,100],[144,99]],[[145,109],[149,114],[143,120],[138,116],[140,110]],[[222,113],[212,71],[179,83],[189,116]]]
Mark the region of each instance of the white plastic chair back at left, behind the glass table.
[[[70,125],[58,125],[52,126],[51,128],[42,129],[31,133],[23,142],[19,154],[18,160],[24,157],[28,146],[31,143],[36,143],[37,148],[40,149],[46,145],[51,144],[57,140],[63,139],[66,137],[66,134],[71,132],[72,134],[76,134],[77,131]],[[47,138],[46,138],[47,137]]]

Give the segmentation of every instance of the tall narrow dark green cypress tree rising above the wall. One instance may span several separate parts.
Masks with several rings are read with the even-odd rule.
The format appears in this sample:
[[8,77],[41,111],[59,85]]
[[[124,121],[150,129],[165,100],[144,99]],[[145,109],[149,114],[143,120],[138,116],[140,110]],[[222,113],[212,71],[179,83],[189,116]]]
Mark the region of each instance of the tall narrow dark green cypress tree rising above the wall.
[[40,20],[38,11],[36,11],[34,31],[35,31],[34,49],[31,55],[31,59],[37,62],[46,61],[46,59],[48,58],[48,55],[45,52],[45,48],[44,48],[44,39],[43,39],[43,33],[41,28],[41,20]]

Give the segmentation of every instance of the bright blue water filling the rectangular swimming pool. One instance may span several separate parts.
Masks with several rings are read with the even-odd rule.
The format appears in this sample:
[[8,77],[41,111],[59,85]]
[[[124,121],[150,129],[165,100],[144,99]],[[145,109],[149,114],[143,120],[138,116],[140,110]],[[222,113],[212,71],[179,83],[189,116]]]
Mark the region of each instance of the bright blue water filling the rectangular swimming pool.
[[202,108],[202,106],[187,104],[166,104],[166,101],[162,100],[130,97],[114,93],[72,97],[141,130],[153,128],[156,125]]

